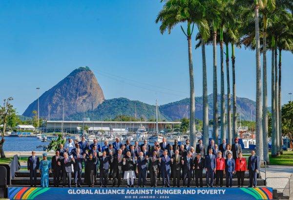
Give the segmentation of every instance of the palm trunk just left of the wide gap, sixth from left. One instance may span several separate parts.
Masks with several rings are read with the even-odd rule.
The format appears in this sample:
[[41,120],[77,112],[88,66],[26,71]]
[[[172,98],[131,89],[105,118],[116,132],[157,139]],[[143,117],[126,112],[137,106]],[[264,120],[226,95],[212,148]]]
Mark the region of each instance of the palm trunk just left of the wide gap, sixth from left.
[[237,133],[237,113],[236,113],[236,83],[235,83],[235,52],[234,52],[234,43],[232,46],[232,89],[233,89],[233,137],[236,138],[238,136]]

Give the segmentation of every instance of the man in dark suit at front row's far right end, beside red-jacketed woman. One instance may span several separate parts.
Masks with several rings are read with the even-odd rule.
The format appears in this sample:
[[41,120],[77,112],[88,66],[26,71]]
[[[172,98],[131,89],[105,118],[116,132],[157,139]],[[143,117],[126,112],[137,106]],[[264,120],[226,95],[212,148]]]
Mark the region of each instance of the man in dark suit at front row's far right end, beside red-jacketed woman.
[[259,157],[255,156],[255,152],[251,151],[251,156],[248,158],[247,169],[249,170],[249,187],[256,187],[257,173],[259,172],[260,161]]

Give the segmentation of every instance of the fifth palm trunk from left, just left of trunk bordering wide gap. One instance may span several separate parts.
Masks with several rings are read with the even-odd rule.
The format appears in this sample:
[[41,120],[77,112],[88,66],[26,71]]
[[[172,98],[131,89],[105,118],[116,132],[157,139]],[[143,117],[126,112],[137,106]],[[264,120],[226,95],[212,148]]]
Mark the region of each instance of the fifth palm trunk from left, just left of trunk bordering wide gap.
[[228,135],[228,144],[231,144],[232,143],[231,94],[230,94],[229,46],[228,46],[228,43],[226,43],[226,72],[227,72],[227,135]]

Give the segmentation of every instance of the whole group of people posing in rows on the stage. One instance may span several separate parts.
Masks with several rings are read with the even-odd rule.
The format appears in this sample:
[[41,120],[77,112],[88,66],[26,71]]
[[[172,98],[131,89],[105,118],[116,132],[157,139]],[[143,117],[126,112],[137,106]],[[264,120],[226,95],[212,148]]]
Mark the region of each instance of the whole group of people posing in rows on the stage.
[[119,187],[121,180],[127,181],[127,187],[134,187],[134,180],[138,178],[138,186],[145,187],[147,172],[149,172],[150,186],[156,187],[157,180],[163,180],[163,187],[170,187],[170,180],[174,187],[190,186],[190,181],[195,179],[196,187],[203,187],[203,170],[206,171],[207,186],[223,186],[223,177],[226,175],[226,187],[232,186],[232,176],[237,175],[238,187],[243,187],[245,171],[249,171],[249,187],[256,186],[256,177],[260,169],[259,157],[251,151],[248,163],[242,156],[242,148],[238,139],[232,145],[223,140],[219,146],[214,140],[210,140],[206,148],[202,140],[198,141],[196,147],[192,147],[189,140],[185,145],[162,142],[154,142],[153,145],[144,140],[143,144],[135,141],[134,145],[129,140],[123,144],[119,138],[109,144],[105,141],[100,146],[95,139],[89,144],[84,137],[80,142],[74,143],[68,139],[63,146],[60,144],[52,160],[47,160],[44,153],[42,160],[32,156],[27,160],[27,169],[30,171],[30,184],[36,186],[37,170],[41,172],[41,187],[49,186],[49,173],[53,173],[54,186],[59,187],[61,179],[63,187],[66,180],[71,187],[71,175],[74,174],[76,187],[82,185],[82,170],[84,169],[84,184],[94,187],[98,184],[96,179],[100,178],[100,186],[107,187],[108,179],[113,179],[113,187]]

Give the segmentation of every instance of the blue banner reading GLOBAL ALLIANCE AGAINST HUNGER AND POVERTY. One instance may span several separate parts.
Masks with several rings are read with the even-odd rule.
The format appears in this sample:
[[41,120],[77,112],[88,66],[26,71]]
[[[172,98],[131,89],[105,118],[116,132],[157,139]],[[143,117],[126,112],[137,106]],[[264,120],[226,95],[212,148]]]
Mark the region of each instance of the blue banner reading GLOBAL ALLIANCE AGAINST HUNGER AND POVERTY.
[[48,199],[231,199],[272,200],[272,188],[57,188],[57,187],[8,187],[10,200]]

